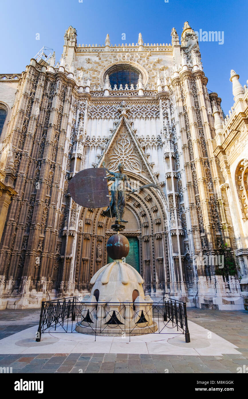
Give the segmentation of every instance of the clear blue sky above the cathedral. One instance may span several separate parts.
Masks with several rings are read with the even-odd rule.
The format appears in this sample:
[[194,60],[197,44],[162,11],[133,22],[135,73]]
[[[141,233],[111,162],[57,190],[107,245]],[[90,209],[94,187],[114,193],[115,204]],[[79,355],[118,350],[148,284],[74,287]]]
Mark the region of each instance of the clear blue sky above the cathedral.
[[[2,2],[0,26],[0,73],[20,73],[43,47],[56,51],[59,61],[68,26],[78,32],[78,43],[103,44],[107,33],[112,44],[170,43],[184,22],[196,31],[224,31],[224,44],[200,42],[208,89],[222,98],[225,113],[233,105],[230,69],[248,79],[247,0],[12,0]],[[40,40],[35,35],[40,34]],[[126,41],[121,34],[126,34]]]

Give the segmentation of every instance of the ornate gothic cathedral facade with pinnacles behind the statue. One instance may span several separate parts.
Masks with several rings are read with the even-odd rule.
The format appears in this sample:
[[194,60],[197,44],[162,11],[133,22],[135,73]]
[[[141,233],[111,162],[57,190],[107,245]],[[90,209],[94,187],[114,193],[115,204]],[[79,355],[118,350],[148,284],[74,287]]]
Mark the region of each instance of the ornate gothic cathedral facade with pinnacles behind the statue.
[[0,308],[90,291],[108,261],[111,219],[76,204],[68,184],[102,167],[104,153],[134,187],[157,186],[130,194],[125,212],[127,261],[145,291],[199,308],[246,306],[247,89],[232,71],[238,106],[225,118],[195,32],[186,22],[181,44],[171,35],[169,45],[141,34],[136,44],[107,35],[80,45],[70,26],[60,62],[53,53],[0,75]]

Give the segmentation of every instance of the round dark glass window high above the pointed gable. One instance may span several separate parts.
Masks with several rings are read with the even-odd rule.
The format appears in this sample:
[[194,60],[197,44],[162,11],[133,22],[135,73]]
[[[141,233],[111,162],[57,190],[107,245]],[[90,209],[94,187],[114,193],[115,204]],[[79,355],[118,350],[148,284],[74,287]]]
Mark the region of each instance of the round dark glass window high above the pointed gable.
[[109,81],[112,89],[115,85],[119,89],[120,85],[122,85],[123,89],[125,89],[125,85],[128,85],[130,88],[131,85],[136,89],[136,85],[139,80],[140,71],[131,65],[116,65],[109,69],[106,75],[109,75]]

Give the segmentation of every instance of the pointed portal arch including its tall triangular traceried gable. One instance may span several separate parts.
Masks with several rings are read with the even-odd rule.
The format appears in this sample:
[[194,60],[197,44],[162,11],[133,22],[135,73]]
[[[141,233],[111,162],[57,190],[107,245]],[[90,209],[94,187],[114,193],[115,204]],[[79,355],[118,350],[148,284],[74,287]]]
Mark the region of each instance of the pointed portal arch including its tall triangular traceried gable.
[[[105,148],[107,168],[116,171],[121,161],[125,174],[135,188],[149,183],[158,185],[157,177],[129,123],[125,102],[121,104],[119,112],[121,116]],[[103,160],[102,154],[98,167],[102,166]],[[103,216],[102,211],[86,208],[79,210],[78,221],[82,229],[78,237],[75,269],[75,282],[79,290],[87,290],[91,277],[107,263],[106,243],[113,231],[111,219]],[[123,235],[137,237],[139,240],[140,273],[145,288],[149,291],[164,291],[166,284],[171,281],[172,272],[167,238],[169,213],[162,189],[147,188],[127,196],[126,211],[130,221]]]

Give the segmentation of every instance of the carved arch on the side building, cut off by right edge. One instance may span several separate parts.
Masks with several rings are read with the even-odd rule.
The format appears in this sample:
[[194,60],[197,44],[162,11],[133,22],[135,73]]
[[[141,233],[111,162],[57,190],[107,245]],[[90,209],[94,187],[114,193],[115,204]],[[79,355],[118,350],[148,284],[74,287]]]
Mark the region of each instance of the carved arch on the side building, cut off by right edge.
[[242,216],[248,219],[248,160],[243,159],[238,163],[235,173],[236,189]]

